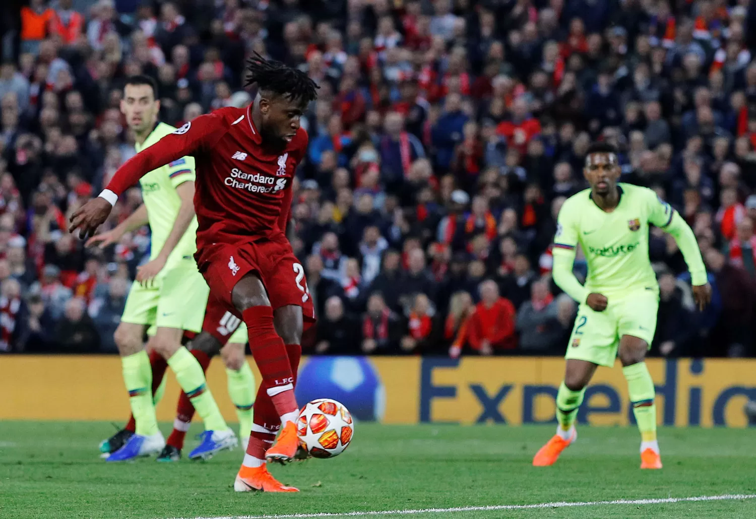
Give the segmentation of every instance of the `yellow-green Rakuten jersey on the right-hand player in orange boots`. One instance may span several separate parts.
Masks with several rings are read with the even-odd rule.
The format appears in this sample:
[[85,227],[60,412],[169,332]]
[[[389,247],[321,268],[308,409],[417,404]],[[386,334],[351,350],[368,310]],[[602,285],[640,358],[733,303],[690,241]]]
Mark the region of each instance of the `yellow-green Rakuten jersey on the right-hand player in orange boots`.
[[658,290],[649,260],[649,224],[667,227],[674,211],[646,187],[618,184],[620,199],[605,212],[590,189],[567,199],[559,211],[553,254],[574,254],[578,243],[588,264],[585,288],[603,295]]

